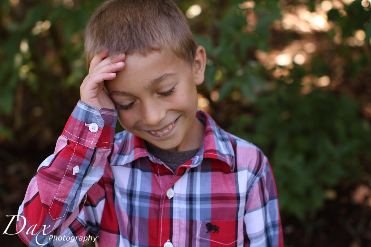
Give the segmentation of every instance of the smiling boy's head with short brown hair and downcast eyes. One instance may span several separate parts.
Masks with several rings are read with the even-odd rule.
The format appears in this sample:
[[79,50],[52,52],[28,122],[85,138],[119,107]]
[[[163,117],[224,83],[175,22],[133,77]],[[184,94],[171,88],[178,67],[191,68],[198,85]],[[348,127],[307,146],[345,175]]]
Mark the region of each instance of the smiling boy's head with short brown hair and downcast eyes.
[[87,62],[102,50],[125,53],[125,67],[105,89],[130,133],[162,149],[200,147],[196,85],[204,80],[205,49],[193,39],[171,0],[110,0],[86,28]]

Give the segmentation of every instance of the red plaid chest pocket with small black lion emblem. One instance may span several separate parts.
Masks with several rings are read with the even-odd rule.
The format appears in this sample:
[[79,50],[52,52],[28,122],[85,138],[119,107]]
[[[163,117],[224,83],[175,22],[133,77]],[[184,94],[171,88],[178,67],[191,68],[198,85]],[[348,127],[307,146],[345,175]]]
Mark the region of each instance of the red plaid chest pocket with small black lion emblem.
[[243,245],[243,216],[237,221],[197,221],[196,247],[230,247]]

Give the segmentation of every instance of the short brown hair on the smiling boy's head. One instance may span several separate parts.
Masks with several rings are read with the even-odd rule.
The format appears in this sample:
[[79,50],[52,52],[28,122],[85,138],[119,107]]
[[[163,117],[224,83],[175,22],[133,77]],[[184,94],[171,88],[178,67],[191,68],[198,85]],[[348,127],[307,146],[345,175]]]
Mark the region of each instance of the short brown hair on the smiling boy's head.
[[85,29],[88,67],[98,52],[108,56],[170,48],[193,64],[197,44],[183,12],[171,0],[108,0],[96,9]]

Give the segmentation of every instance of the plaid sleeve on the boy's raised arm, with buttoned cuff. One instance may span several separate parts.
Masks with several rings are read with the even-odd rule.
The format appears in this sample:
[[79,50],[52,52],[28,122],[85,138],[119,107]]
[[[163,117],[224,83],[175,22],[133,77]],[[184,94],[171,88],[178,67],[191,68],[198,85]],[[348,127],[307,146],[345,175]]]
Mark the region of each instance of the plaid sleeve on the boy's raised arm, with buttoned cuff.
[[[98,110],[78,102],[54,154],[40,164],[19,207],[16,227],[24,243],[81,246],[86,240],[89,229],[85,217],[94,215],[86,193],[104,174],[116,119],[116,110]],[[104,201],[104,190],[95,191],[94,196],[101,198],[96,201]],[[53,241],[58,244],[52,244]]]

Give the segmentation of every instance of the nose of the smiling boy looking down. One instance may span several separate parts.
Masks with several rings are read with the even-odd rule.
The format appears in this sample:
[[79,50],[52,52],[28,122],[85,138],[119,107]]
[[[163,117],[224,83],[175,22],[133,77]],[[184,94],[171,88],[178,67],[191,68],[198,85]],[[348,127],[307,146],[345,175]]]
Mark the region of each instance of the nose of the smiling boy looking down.
[[165,115],[166,109],[155,104],[155,102],[147,101],[142,103],[142,120],[144,124],[158,126]]

